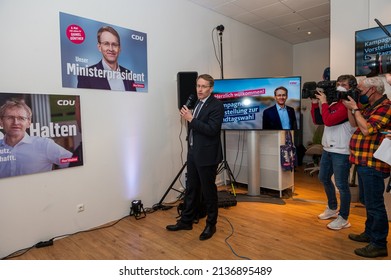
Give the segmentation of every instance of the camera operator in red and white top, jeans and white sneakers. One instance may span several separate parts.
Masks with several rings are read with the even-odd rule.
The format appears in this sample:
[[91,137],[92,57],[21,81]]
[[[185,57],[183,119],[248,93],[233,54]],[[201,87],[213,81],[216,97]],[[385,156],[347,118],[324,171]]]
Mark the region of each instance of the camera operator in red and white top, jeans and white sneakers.
[[[338,92],[346,92],[356,87],[356,85],[356,78],[352,75],[341,75],[336,82]],[[321,220],[336,218],[327,227],[340,230],[351,226],[348,221],[351,200],[349,189],[349,140],[355,129],[349,123],[348,112],[342,103],[342,99],[329,104],[326,94],[321,91],[317,91],[315,97],[316,99],[311,98],[312,121],[314,124],[324,124],[325,126],[318,177],[327,196],[327,207],[323,213],[318,215],[318,218]],[[340,193],[339,211],[335,186],[331,180],[333,174],[335,185]]]

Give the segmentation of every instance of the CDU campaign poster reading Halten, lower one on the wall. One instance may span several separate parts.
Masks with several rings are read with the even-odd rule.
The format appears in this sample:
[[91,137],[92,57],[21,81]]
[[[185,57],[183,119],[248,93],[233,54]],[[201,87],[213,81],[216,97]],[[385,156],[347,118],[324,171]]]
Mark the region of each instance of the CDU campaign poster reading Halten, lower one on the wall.
[[0,93],[0,179],[81,165],[79,96]]

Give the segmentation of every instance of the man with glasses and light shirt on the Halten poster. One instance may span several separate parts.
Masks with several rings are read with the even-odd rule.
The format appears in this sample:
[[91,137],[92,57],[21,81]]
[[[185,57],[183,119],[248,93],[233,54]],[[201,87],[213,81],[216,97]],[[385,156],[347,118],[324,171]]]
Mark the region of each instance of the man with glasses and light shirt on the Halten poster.
[[30,136],[32,111],[24,100],[8,100],[0,107],[0,178],[51,171],[69,166],[72,153],[52,139]]

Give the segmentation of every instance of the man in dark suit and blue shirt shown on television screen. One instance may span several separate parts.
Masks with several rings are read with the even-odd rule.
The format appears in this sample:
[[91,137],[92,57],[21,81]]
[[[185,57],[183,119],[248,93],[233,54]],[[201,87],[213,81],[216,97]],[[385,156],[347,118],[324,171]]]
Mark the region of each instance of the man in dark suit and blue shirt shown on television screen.
[[295,109],[286,106],[288,98],[288,89],[278,87],[274,90],[276,105],[263,111],[262,128],[263,129],[297,129]]

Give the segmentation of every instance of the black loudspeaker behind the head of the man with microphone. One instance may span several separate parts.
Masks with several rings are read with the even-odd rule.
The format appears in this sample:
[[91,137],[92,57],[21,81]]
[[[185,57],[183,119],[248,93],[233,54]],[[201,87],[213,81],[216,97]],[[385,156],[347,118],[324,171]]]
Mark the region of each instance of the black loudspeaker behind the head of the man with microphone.
[[182,106],[186,104],[186,101],[189,99],[190,95],[197,96],[197,77],[197,72],[178,72],[178,109],[181,109]]

